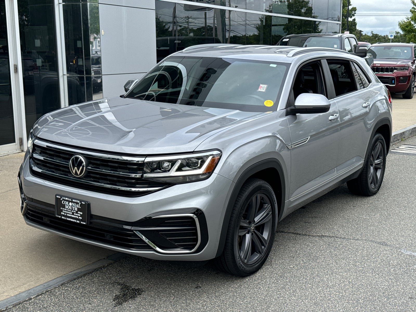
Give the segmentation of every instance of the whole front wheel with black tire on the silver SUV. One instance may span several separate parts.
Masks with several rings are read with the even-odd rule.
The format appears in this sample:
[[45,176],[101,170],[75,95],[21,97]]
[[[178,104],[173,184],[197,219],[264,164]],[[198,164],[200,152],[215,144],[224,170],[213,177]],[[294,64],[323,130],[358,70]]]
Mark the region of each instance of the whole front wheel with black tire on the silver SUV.
[[218,270],[243,277],[262,267],[273,245],[276,208],[275,193],[267,182],[255,178],[243,185],[231,212],[223,253],[213,260]]

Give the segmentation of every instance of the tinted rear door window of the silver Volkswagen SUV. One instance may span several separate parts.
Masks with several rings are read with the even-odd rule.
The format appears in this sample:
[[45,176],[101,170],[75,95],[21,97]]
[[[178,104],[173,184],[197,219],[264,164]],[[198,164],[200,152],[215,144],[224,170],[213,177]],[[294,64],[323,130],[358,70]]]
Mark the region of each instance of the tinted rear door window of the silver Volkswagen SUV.
[[328,66],[337,97],[357,90],[349,61],[331,59],[328,60]]

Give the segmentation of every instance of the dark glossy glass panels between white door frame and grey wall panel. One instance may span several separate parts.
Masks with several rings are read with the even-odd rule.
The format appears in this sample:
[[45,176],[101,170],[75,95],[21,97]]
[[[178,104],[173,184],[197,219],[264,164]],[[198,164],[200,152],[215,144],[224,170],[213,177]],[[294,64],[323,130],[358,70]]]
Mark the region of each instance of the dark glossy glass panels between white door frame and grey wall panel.
[[64,3],[69,105],[102,99],[102,63],[97,3]]

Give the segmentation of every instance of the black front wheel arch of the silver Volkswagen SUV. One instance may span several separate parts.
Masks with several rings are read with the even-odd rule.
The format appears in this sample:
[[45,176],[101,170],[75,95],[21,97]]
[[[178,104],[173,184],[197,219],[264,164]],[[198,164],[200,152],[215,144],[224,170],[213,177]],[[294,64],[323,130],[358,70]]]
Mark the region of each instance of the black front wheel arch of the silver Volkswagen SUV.
[[[277,176],[276,176],[277,174]],[[276,178],[277,177],[277,178]],[[225,210],[223,225],[221,227],[220,240],[218,242],[218,250],[215,257],[219,257],[223,253],[225,245],[225,236],[227,235],[228,223],[230,222],[231,211],[238,193],[243,184],[250,178],[259,178],[273,188],[277,201],[277,221],[280,220],[283,209],[285,207],[285,175],[281,163],[276,158],[268,158],[255,163],[245,169],[234,185],[230,199]]]

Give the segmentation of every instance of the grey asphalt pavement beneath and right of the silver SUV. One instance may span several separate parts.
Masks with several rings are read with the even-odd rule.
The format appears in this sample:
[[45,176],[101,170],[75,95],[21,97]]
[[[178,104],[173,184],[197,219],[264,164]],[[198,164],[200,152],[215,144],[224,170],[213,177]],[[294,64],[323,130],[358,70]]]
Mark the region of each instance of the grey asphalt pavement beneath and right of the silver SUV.
[[249,277],[129,255],[8,311],[415,311],[415,187],[416,153],[391,153],[378,194],[344,184],[290,214]]

